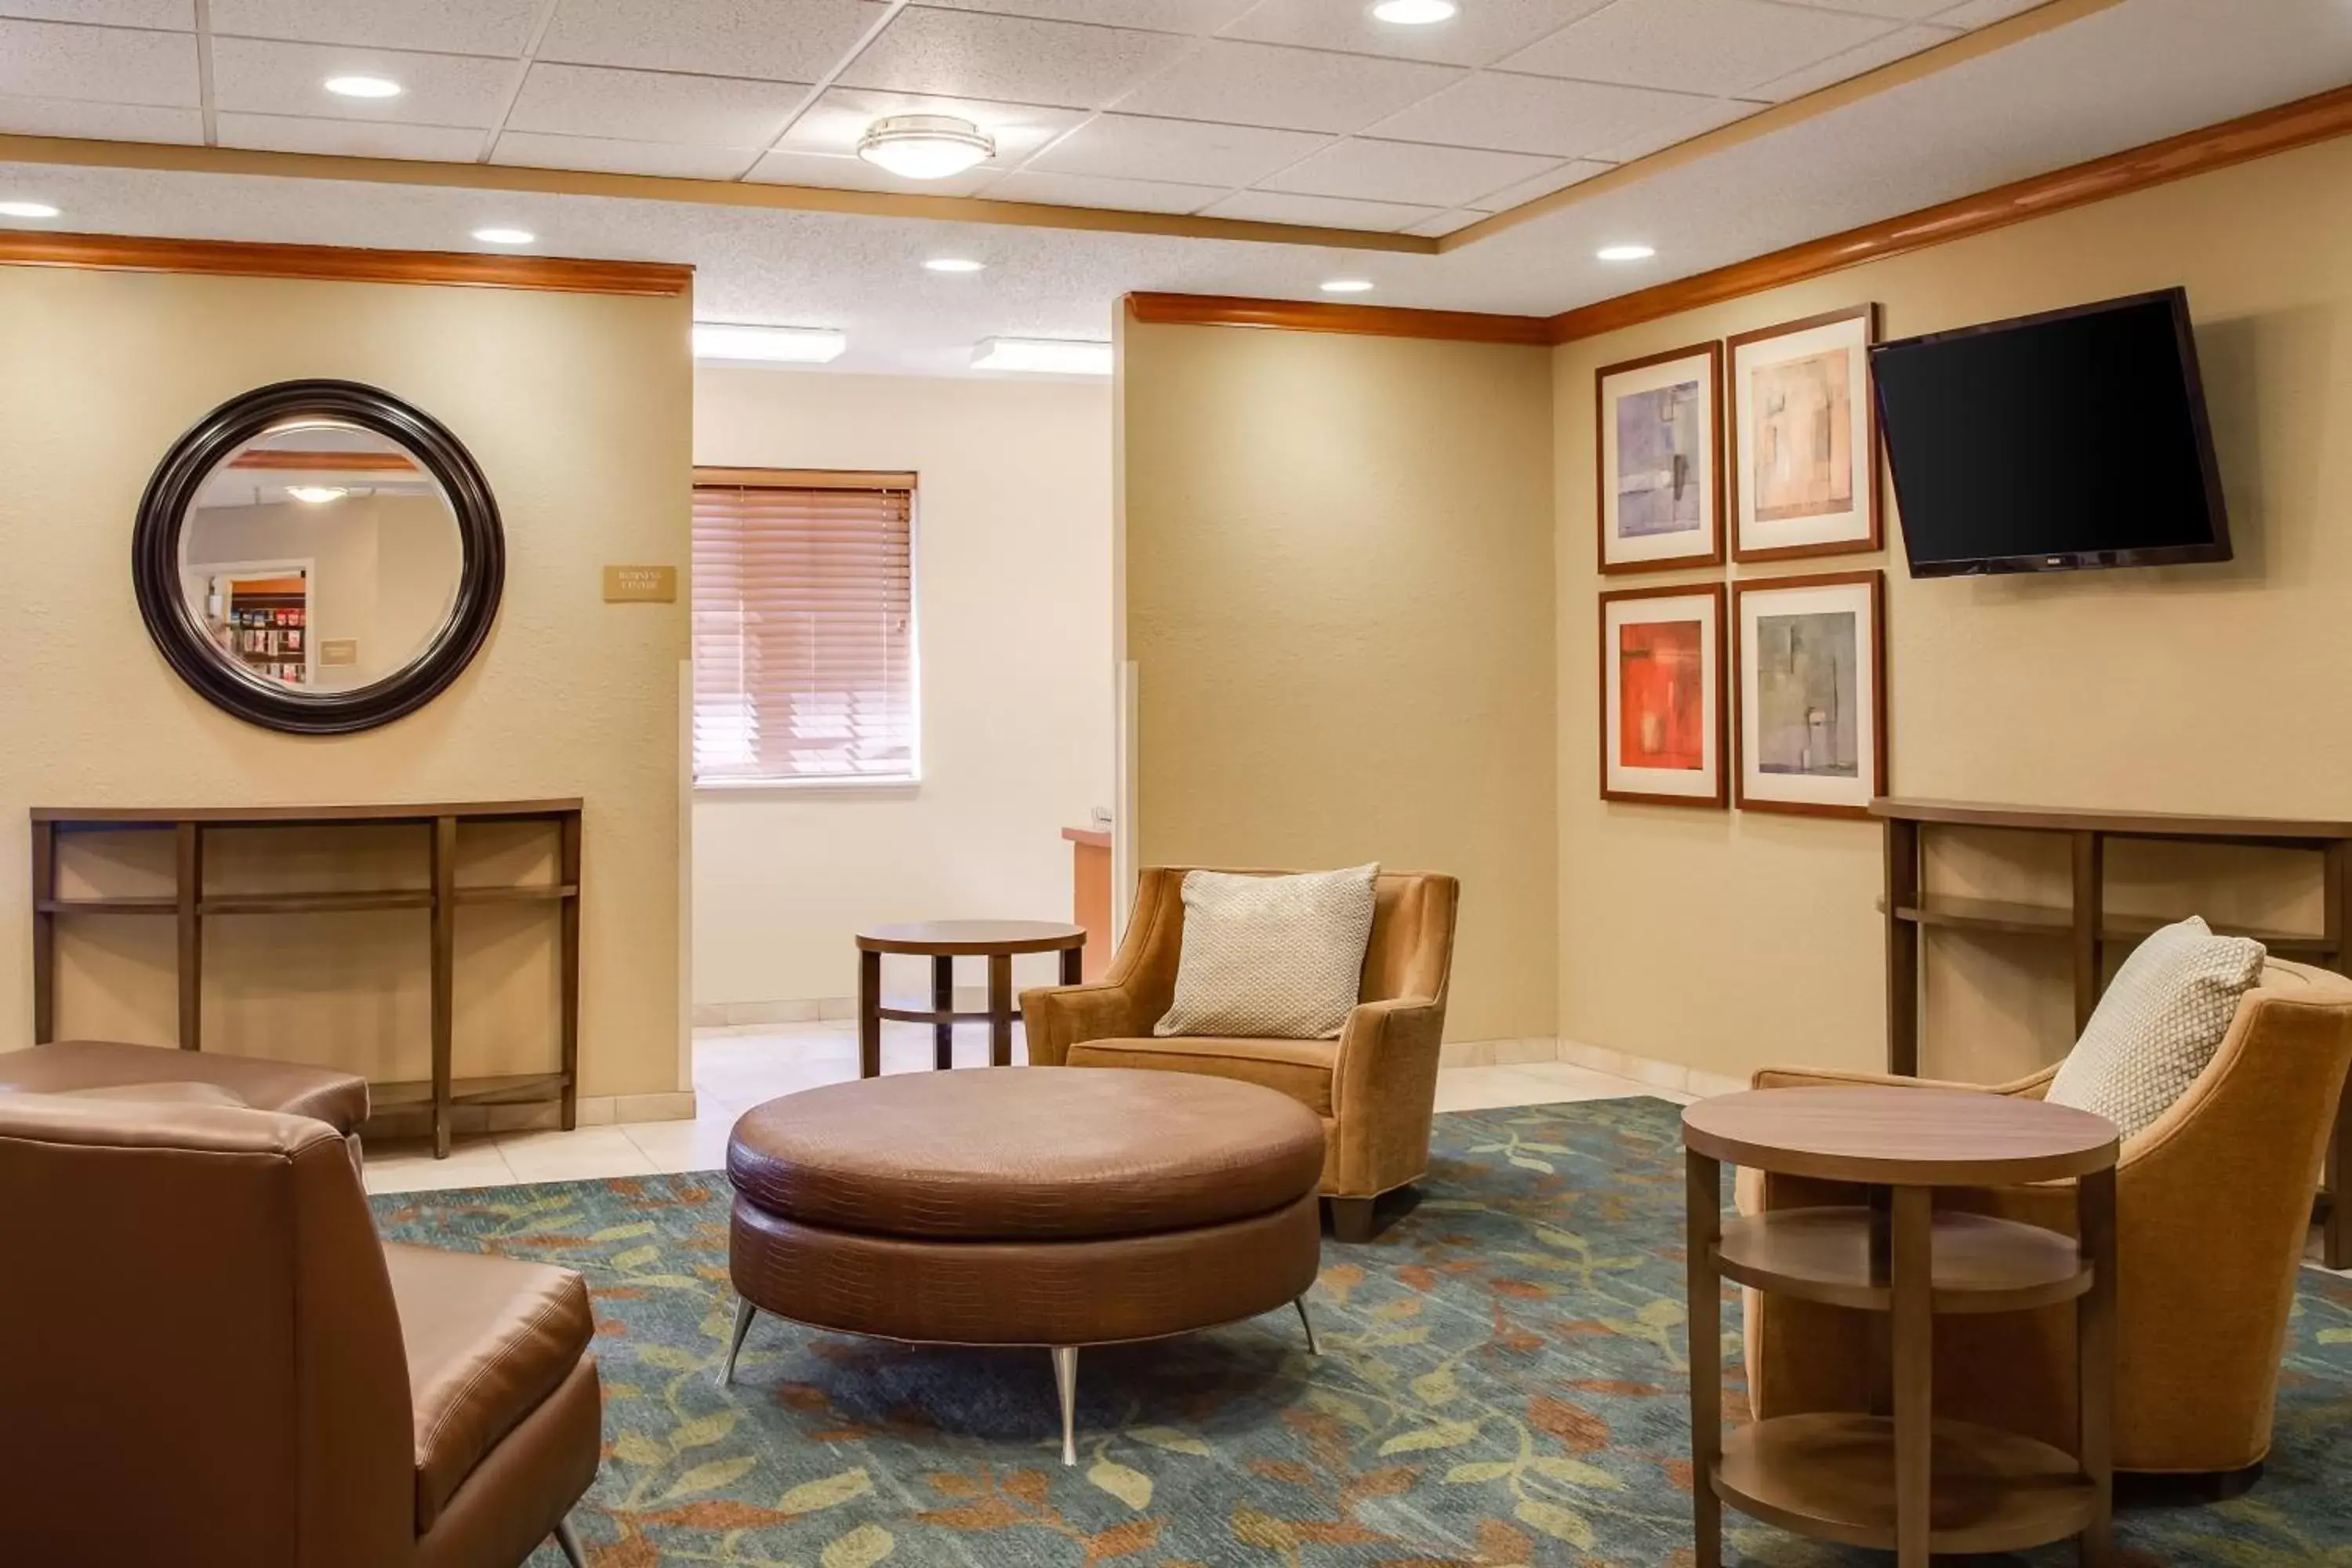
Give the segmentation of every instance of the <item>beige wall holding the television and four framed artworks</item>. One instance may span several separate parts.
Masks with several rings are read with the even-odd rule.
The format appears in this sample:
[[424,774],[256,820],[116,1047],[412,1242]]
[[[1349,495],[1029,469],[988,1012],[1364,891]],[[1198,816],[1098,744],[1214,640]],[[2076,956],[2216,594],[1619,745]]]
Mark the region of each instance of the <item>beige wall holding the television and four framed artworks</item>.
[[[1891,785],[2053,806],[2352,813],[2352,141],[2225,169],[1557,350],[1559,1013],[1588,1044],[1715,1072],[1884,1060],[1879,830],[1597,799],[1592,371],[1865,299],[1886,336],[2185,284],[2237,559],[1912,581],[1891,501]],[[1851,569],[1870,557],[1783,567]],[[1738,569],[1769,576],[1769,569]],[[1642,583],[1710,581],[1653,574]],[[1971,863],[1973,860],[1973,863]],[[1940,870],[2051,889],[2016,842]],[[2152,900],[2220,912],[2180,867]],[[2199,867],[2187,867],[2197,872]],[[2063,886],[2063,884],[2060,884]],[[2209,886],[2209,884],[2206,884]],[[2310,914],[2279,870],[2244,914]],[[1926,1070],[2051,1060],[2065,954],[1947,938],[1929,952]]]

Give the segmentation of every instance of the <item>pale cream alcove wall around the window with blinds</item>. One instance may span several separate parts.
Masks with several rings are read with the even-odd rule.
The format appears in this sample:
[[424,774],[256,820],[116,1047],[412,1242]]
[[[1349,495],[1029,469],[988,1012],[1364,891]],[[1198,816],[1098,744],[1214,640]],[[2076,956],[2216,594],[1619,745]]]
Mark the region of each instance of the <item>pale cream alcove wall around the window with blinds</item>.
[[922,661],[920,785],[696,795],[694,1001],[851,997],[863,924],[1070,919],[1061,830],[1112,804],[1110,388],[710,367],[694,456],[913,470]]

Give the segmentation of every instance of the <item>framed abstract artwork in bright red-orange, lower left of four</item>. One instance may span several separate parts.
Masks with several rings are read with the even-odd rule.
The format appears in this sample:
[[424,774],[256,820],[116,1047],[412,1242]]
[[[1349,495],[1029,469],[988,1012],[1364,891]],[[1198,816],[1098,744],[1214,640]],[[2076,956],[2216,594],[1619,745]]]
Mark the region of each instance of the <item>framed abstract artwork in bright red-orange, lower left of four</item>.
[[1602,595],[1602,799],[1722,806],[1724,585]]

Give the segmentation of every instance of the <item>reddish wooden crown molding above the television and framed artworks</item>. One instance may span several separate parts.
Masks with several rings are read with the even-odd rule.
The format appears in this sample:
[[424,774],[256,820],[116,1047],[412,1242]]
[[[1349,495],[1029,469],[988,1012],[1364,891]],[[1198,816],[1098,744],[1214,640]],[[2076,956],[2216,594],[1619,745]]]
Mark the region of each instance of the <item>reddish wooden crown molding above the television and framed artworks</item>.
[[2352,87],[2336,87],[2310,99],[2263,108],[2107,158],[2093,158],[2070,169],[2053,169],[2009,186],[1994,186],[1992,190],[1978,190],[1957,202],[1922,207],[1896,219],[1849,228],[1842,235],[1806,240],[1804,244],[1790,244],[1764,256],[1733,261],[1712,273],[1693,273],[1691,277],[1677,277],[1675,282],[1562,310],[1550,317],[1552,341],[1573,343],[1621,327],[1698,310],[1700,306],[1719,306],[1745,294],[1823,277],[1865,261],[1884,261],[1931,244],[1950,244],[1952,240],[1966,240],[1969,235],[1983,235],[1994,228],[2023,223],[2025,219],[2065,212],[2067,207],[2105,202],[2133,190],[2147,190],[2150,186],[2190,179],[2192,174],[2270,158],[2272,153],[2291,153],[2293,148],[2328,141],[2347,132],[2352,132]]

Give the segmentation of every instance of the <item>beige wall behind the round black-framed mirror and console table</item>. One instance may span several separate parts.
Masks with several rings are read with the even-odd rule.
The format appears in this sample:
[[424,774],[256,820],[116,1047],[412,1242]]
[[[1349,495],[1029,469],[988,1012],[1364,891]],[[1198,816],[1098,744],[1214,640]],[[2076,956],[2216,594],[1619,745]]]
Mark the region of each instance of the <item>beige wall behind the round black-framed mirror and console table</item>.
[[[31,1039],[28,806],[581,795],[583,1093],[682,1086],[684,604],[607,607],[600,564],[687,559],[687,322],[684,299],[0,268],[0,886],[19,889],[0,900],[0,1046]],[[506,522],[489,644],[423,712],[365,736],[219,712],[169,672],[132,597],[132,517],[165,449],[226,397],[294,376],[369,381],[442,418]],[[113,872],[141,875],[139,853]],[[468,856],[485,872],[534,858],[492,839]],[[268,875],[235,844],[219,870]],[[353,865],[322,853],[308,870]],[[548,1060],[539,919],[461,917],[461,1072]],[[66,922],[64,1030],[174,1039],[162,924]],[[419,917],[223,919],[209,936],[214,1046],[421,1077]]]

